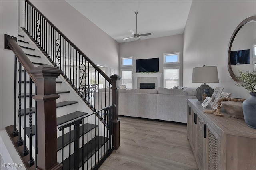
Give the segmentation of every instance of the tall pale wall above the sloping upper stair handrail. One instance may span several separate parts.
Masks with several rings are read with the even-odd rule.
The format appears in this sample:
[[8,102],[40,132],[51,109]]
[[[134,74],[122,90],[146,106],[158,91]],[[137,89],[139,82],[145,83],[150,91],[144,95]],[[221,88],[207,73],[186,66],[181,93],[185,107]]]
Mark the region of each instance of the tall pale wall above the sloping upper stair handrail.
[[[63,0],[30,1],[94,63],[118,70],[118,42]],[[110,69],[108,69],[108,75]]]

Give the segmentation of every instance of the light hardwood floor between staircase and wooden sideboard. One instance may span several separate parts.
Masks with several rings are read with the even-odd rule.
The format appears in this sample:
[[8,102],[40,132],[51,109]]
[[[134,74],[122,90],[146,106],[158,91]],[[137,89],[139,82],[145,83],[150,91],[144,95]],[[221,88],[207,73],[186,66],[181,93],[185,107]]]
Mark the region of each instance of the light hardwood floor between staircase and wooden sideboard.
[[186,125],[120,117],[120,147],[99,170],[198,169]]

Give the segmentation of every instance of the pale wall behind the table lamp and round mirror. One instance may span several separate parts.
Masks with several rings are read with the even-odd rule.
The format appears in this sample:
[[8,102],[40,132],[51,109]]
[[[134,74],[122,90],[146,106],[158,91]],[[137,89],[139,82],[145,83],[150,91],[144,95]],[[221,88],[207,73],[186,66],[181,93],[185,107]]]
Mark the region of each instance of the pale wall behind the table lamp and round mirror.
[[191,83],[194,67],[217,66],[220,83],[209,83],[213,89],[224,87],[232,97],[248,98],[248,91],[237,87],[228,73],[228,43],[236,26],[256,15],[256,1],[193,1],[184,30],[183,85]]

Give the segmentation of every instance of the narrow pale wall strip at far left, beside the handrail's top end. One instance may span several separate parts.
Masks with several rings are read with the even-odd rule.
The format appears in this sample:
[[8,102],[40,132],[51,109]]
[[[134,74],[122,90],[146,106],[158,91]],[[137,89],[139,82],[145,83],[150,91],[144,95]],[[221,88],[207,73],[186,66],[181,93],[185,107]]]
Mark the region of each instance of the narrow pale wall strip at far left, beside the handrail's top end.
[[[4,34],[18,35],[18,1],[0,1],[1,57],[0,57],[0,128],[13,124],[14,53],[4,49]],[[11,75],[11,76],[10,76]]]

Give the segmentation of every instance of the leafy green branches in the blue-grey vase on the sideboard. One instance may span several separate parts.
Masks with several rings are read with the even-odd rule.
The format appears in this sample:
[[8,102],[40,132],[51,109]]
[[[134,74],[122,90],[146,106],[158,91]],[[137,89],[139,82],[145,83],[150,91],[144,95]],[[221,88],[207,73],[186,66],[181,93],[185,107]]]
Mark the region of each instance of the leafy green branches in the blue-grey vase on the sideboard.
[[243,81],[242,84],[236,84],[237,86],[242,86],[246,90],[256,93],[256,70],[250,72],[246,71],[246,73],[242,73],[242,71],[239,71],[241,76],[238,76],[238,79]]

